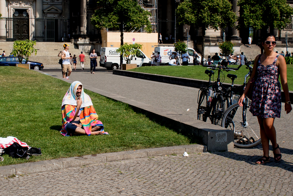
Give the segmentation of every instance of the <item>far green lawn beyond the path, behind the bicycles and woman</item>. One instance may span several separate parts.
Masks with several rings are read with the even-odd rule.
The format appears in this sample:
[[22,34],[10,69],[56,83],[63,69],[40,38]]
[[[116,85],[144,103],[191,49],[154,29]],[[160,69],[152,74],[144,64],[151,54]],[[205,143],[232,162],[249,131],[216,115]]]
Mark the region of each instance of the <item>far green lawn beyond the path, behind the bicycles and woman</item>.
[[[238,67],[236,65],[229,65],[230,67]],[[175,76],[175,77],[182,77],[182,78],[193,78],[199,80],[209,80],[209,76],[205,74],[205,70],[207,67],[202,66],[146,66],[146,67],[138,67],[134,69],[130,69],[128,71],[137,71],[143,73],[152,73],[152,74],[159,74],[159,75],[166,75],[166,76]],[[216,71],[216,70],[215,70]],[[248,73],[248,69],[246,66],[242,66],[238,71],[229,71],[223,72],[225,75],[224,82],[231,83],[231,79],[227,78],[227,74],[236,74],[237,78],[235,79],[235,84],[243,84],[244,76]],[[217,81],[218,73],[215,72],[214,74],[214,81]],[[289,91],[293,91],[293,65],[287,65],[287,81],[289,86]],[[221,76],[223,79],[223,77]],[[212,78],[213,81],[213,78]]]

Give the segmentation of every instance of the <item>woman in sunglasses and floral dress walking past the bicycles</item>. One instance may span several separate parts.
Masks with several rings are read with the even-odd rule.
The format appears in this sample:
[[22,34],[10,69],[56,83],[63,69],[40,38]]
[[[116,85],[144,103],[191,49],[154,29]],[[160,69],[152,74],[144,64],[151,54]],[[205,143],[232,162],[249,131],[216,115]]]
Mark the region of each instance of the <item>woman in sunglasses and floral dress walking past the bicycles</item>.
[[[289,90],[287,84],[287,65],[285,58],[274,52],[276,38],[273,34],[266,34],[262,40],[264,54],[255,58],[253,71],[247,82],[238,104],[242,105],[246,93],[248,93],[251,82],[255,80],[252,89],[252,100],[249,111],[253,116],[257,116],[260,125],[260,137],[263,146],[263,157],[258,159],[256,164],[264,164],[270,161],[269,141],[272,143],[274,160],[282,158],[279,145],[276,139],[274,127],[275,117],[280,118],[281,114],[281,85],[278,81],[279,75],[285,94],[285,111],[287,114],[292,110],[289,100]],[[253,79],[252,79],[253,78]]]

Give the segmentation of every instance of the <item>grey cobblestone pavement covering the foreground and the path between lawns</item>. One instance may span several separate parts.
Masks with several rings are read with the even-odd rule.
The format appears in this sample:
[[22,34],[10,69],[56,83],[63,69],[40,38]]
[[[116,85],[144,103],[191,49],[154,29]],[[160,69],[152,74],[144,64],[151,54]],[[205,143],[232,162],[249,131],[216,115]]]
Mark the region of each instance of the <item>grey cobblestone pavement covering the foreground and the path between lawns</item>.
[[[60,71],[47,73],[61,76]],[[115,76],[103,69],[96,74],[73,72],[70,80],[196,118],[196,88]],[[270,151],[270,163],[255,165],[262,155],[259,145],[252,149],[234,148],[234,152],[140,158],[0,178],[0,192],[1,195],[293,195],[292,119],[292,113],[286,115],[282,105],[281,118],[275,120],[282,153],[280,162],[273,161]]]

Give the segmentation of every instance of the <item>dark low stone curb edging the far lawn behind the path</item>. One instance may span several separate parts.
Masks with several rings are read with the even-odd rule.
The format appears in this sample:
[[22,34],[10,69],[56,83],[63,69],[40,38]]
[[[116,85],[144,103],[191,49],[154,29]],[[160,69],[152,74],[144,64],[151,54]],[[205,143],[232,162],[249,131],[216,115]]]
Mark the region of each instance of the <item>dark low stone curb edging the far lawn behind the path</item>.
[[[180,86],[188,86],[193,88],[200,88],[205,87],[208,84],[208,81],[205,80],[196,80],[191,78],[180,78],[180,77],[174,77],[174,76],[164,76],[164,75],[158,75],[158,74],[151,74],[151,73],[141,73],[141,72],[135,72],[135,71],[125,71],[125,70],[113,70],[114,75],[119,76],[126,76],[126,77],[132,77],[132,78],[139,78],[144,80],[150,80],[150,81],[156,81],[156,82],[163,82],[168,84],[176,84]],[[228,88],[231,86],[229,83],[223,83],[223,86],[225,88]],[[234,84],[234,86],[241,86],[239,84]],[[293,91],[289,91],[289,97],[290,100],[293,100]],[[285,100],[285,94],[284,91],[281,91],[281,99],[282,102],[286,102]]]

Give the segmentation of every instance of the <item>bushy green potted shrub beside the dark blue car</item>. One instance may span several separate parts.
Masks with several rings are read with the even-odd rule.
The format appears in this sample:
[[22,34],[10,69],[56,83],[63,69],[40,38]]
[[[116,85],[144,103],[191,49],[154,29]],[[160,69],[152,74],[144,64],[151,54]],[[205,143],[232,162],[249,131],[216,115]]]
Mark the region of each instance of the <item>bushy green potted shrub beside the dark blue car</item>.
[[12,54],[18,57],[20,63],[23,60],[23,56],[25,56],[25,60],[28,61],[32,53],[35,53],[35,55],[37,55],[37,49],[34,48],[36,44],[36,41],[31,41],[28,39],[25,41],[14,41]]

